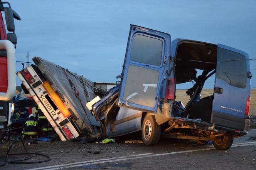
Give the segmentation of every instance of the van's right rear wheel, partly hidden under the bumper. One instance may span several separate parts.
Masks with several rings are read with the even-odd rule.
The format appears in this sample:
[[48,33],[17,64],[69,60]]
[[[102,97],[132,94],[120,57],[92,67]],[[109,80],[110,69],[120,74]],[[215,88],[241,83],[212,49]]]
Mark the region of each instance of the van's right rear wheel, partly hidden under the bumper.
[[212,141],[214,147],[220,150],[227,150],[231,147],[234,135],[225,135],[221,137],[221,141]]

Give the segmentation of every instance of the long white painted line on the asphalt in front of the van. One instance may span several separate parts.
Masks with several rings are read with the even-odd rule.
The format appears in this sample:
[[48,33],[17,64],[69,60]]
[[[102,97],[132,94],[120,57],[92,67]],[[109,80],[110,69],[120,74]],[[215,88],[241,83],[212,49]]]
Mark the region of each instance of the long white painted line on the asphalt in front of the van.
[[[250,145],[256,145],[256,142],[234,143],[231,147],[244,147],[244,146],[250,146]],[[123,160],[132,160],[132,159],[146,158],[146,157],[157,157],[157,156],[163,156],[163,155],[173,155],[177,153],[188,153],[188,152],[197,152],[197,151],[214,150],[214,149],[215,148],[212,147],[212,148],[203,148],[203,149],[185,150],[185,151],[178,151],[178,152],[158,153],[158,154],[144,153],[144,154],[138,154],[138,155],[123,156],[123,157],[113,157],[113,158],[104,158],[104,159],[98,159],[98,160],[88,160],[84,162],[66,163],[62,165],[40,167],[40,168],[34,168],[30,170],[45,170],[45,169],[57,170],[57,169],[64,169],[64,168],[81,167],[86,165],[94,165],[99,163],[118,162]]]

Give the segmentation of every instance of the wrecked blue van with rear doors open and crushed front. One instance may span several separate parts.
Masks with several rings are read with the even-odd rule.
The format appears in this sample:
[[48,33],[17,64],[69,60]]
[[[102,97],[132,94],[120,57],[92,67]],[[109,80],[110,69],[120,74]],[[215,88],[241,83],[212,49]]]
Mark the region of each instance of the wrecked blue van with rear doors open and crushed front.
[[[234,138],[249,130],[248,59],[247,53],[226,45],[179,38],[171,42],[167,33],[131,25],[121,82],[93,105],[103,136],[141,130],[145,145],[156,144],[162,135],[230,148]],[[212,95],[200,98],[212,75]],[[195,84],[186,92],[190,100],[183,107],[175,100],[176,85],[192,80]]]

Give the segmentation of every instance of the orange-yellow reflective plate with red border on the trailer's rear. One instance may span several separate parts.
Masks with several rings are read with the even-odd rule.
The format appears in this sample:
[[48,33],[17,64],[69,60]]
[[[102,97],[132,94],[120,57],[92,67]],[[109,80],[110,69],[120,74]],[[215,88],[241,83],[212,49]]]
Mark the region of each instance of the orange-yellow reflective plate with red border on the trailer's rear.
[[65,105],[62,103],[61,99],[59,98],[59,96],[57,95],[57,93],[53,90],[53,88],[51,87],[51,85],[45,81],[43,83],[43,86],[45,88],[45,90],[47,91],[48,95],[51,97],[52,101],[54,102],[54,104],[57,106],[57,108],[61,111],[62,115],[67,118],[69,117],[71,114],[69,113],[69,111],[67,110],[67,108],[65,107]]

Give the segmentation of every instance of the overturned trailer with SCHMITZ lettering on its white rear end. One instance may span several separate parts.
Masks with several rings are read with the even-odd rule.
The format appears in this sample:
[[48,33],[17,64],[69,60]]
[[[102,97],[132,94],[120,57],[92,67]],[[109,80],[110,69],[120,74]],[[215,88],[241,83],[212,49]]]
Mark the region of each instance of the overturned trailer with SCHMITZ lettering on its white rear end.
[[32,95],[61,140],[81,135],[99,138],[101,123],[96,121],[86,103],[105,93],[95,85],[104,87],[108,83],[95,84],[40,57],[32,60],[35,65],[17,72],[17,75],[24,90]]

